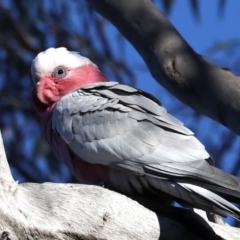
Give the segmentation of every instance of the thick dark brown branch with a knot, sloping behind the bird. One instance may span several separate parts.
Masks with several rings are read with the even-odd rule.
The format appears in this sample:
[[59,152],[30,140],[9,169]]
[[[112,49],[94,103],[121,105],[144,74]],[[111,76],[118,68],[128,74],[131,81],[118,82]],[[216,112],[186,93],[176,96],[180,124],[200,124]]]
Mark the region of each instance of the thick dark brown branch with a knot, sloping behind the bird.
[[240,134],[240,77],[205,61],[150,0],[86,0],[145,60],[153,77],[181,101]]

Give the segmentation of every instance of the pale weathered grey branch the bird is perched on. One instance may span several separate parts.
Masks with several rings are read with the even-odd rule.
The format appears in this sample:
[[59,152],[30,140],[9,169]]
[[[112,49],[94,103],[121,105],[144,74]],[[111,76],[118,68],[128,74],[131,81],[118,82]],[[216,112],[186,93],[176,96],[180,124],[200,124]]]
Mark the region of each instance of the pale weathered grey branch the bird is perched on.
[[[224,239],[240,230],[210,223]],[[14,181],[0,135],[0,239],[197,240],[186,228],[102,187]]]

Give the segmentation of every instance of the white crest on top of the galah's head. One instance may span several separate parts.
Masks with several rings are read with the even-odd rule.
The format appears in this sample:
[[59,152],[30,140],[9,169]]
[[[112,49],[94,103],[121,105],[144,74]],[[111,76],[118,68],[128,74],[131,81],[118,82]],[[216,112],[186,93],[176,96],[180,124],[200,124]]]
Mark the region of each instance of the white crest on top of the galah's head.
[[33,60],[31,73],[33,79],[36,80],[35,78],[50,76],[58,66],[74,69],[87,64],[94,65],[88,58],[77,52],[68,51],[65,47],[48,48],[46,51],[39,53]]

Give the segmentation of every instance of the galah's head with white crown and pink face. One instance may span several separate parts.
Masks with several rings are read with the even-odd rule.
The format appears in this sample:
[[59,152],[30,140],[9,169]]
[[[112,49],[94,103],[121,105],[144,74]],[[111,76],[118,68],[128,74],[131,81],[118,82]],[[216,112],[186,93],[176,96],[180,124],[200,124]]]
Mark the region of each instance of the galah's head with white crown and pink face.
[[32,62],[31,73],[35,86],[33,104],[41,112],[77,88],[108,81],[88,58],[64,47],[39,53]]

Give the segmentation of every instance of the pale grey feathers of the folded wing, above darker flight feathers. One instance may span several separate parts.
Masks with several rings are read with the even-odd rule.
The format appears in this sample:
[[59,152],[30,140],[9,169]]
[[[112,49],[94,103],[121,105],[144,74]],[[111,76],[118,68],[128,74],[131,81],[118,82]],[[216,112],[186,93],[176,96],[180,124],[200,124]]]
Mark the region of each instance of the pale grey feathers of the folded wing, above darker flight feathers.
[[143,171],[144,165],[209,157],[190,130],[139,90],[90,86],[63,97],[53,114],[53,128],[85,161],[137,163]]

